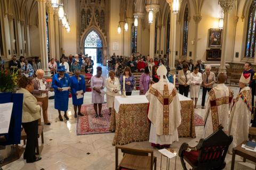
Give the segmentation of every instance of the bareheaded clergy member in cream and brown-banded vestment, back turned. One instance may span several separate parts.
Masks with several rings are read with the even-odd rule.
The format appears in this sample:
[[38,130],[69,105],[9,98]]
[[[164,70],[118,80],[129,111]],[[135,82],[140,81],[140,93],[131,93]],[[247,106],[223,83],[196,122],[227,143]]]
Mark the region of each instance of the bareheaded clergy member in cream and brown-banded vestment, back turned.
[[223,126],[223,131],[228,133],[228,116],[233,99],[233,91],[225,86],[227,75],[223,72],[218,75],[218,85],[209,91],[206,111],[204,116],[205,126],[203,138],[209,137],[218,130],[218,126]]

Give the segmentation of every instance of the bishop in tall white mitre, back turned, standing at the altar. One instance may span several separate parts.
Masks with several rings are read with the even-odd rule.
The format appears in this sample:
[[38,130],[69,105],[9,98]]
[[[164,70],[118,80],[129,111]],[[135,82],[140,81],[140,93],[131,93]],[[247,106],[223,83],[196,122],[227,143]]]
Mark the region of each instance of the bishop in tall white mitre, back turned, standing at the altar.
[[151,146],[170,147],[178,141],[177,128],[181,123],[180,101],[174,85],[166,78],[164,65],[157,69],[159,82],[153,84],[146,93],[149,101],[148,118],[151,121],[149,142]]

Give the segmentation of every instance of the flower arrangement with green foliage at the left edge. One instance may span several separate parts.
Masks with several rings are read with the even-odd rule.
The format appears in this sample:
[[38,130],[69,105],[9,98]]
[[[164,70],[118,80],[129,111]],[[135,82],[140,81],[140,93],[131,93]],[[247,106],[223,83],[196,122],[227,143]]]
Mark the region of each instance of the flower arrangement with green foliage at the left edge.
[[17,88],[18,71],[10,72],[7,69],[0,71],[0,92],[15,92]]

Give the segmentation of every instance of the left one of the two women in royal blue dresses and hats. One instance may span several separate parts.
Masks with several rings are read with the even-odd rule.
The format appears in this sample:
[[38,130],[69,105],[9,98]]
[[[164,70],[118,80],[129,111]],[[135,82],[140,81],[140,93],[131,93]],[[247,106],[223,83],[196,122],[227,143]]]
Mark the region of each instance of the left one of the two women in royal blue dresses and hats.
[[[57,74],[52,77],[52,88],[54,89],[54,108],[59,112],[59,119],[63,121],[60,111],[64,111],[64,117],[69,120],[67,116],[68,110],[68,94],[70,90],[70,78],[65,70],[65,66],[58,66]],[[67,90],[62,88],[68,87]]]

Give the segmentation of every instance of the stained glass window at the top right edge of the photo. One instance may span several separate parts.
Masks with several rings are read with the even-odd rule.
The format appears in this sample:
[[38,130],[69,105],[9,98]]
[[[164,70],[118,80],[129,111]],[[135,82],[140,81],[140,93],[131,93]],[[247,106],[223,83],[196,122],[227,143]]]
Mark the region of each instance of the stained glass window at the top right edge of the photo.
[[255,55],[255,9],[256,9],[256,0],[254,0],[251,4],[249,10],[249,18],[248,18],[248,27],[247,27],[247,35],[246,35],[246,46],[245,46],[245,57],[253,58]]

